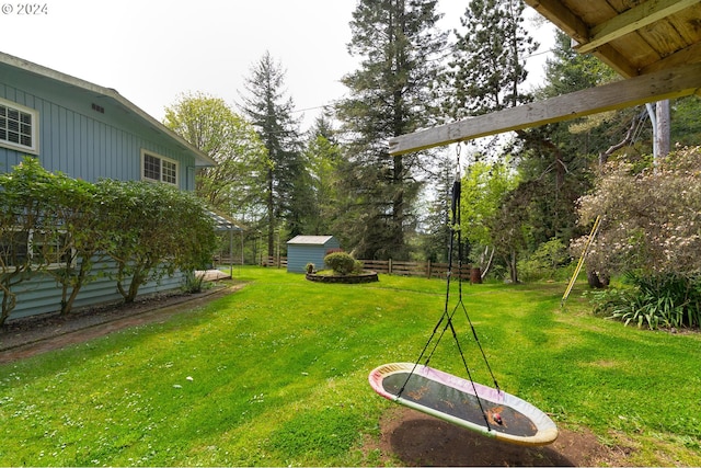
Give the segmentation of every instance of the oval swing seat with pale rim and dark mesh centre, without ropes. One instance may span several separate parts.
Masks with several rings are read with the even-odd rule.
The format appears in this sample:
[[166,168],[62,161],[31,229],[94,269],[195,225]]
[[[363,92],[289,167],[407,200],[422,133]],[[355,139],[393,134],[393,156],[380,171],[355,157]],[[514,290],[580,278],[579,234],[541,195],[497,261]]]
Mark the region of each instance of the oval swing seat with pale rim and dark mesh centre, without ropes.
[[497,441],[547,445],[558,437],[555,423],[529,402],[421,364],[384,364],[369,381],[389,400]]

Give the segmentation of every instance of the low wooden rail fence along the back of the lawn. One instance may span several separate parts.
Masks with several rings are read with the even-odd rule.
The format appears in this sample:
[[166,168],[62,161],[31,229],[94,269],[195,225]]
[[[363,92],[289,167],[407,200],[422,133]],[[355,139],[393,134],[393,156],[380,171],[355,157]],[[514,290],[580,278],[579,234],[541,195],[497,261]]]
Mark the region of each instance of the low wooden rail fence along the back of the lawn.
[[[447,263],[427,262],[402,262],[395,260],[360,260],[366,270],[378,273],[398,276],[423,276],[426,278],[445,278],[448,273]],[[286,256],[266,256],[262,259],[261,265],[287,267]],[[472,265],[452,265],[452,275],[461,279],[470,279],[472,283],[481,283],[480,269]]]

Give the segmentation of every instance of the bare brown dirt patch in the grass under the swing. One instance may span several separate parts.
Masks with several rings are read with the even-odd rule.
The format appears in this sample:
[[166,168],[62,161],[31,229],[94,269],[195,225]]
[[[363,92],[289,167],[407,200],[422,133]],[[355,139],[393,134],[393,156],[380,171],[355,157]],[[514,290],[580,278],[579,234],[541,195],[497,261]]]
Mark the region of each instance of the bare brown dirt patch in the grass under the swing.
[[397,407],[380,421],[381,461],[403,466],[630,466],[629,448],[601,444],[590,432],[560,429],[543,447],[525,447],[484,437],[445,421]]

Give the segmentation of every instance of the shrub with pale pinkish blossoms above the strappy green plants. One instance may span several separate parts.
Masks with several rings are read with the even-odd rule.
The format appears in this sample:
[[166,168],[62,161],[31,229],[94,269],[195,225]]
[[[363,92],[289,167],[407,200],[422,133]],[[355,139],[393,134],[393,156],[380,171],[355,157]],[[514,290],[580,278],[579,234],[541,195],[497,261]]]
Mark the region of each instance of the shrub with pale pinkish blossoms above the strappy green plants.
[[[602,217],[586,260],[590,267],[611,274],[701,270],[701,147],[641,172],[628,163],[607,167],[595,192],[579,199],[578,214],[583,225]],[[584,242],[573,241],[576,255]]]

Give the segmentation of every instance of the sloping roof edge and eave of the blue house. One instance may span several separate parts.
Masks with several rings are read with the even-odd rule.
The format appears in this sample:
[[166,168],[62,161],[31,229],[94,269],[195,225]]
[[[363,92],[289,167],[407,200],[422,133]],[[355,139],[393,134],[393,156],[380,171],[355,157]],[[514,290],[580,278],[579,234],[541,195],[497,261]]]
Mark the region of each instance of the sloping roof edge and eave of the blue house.
[[111,100],[116,104],[117,109],[122,109],[127,115],[131,115],[134,122],[138,122],[146,128],[150,128],[156,134],[172,140],[181,148],[193,153],[196,167],[216,165],[216,162],[208,155],[205,155],[180,135],[151,117],[145,111],[119,94],[116,90],[112,88],[104,88],[99,84],[81,80],[80,78],[71,77],[70,75],[61,73],[60,71],[0,52],[0,73],[18,72],[18,70],[21,70],[21,72],[26,77],[35,77],[39,80],[53,80],[51,83],[55,83],[54,85],[64,92],[69,91],[71,93]]

